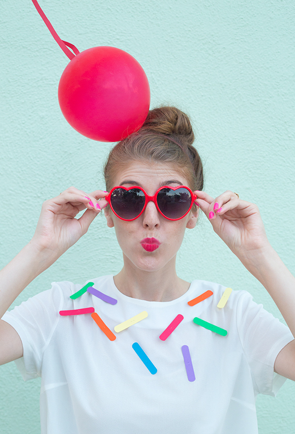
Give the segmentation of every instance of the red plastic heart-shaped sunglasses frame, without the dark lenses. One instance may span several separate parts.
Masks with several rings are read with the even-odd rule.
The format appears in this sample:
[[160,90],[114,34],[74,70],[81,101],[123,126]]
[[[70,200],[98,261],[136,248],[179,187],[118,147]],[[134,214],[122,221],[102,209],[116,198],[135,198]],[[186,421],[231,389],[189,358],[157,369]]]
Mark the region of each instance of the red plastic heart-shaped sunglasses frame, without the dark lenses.
[[[133,188],[139,188],[141,191],[143,191],[143,193],[144,193],[144,195],[145,195],[145,198],[146,198],[146,201],[145,201],[145,205],[144,205],[142,211],[139,213],[138,216],[136,216],[136,217],[134,217],[134,218],[123,218],[123,217],[120,217],[120,216],[116,213],[116,211],[114,210],[114,208],[113,208],[113,206],[112,206],[112,203],[111,203],[111,196],[112,196],[113,191],[116,190],[116,188],[122,188],[123,190],[126,190],[126,191],[128,191],[128,190],[132,190]],[[159,191],[161,191],[163,188],[170,188],[171,190],[177,190],[178,188],[186,188],[186,189],[190,192],[191,199],[192,199],[192,200],[191,200],[191,204],[190,204],[189,209],[187,210],[187,212],[186,212],[183,216],[178,217],[178,218],[169,218],[169,217],[166,217],[166,216],[162,213],[162,211],[160,210],[160,208],[159,208],[159,206],[158,206],[158,204],[157,204],[157,195],[158,195]],[[181,218],[185,217],[185,216],[190,212],[190,210],[192,209],[193,203],[194,203],[194,201],[195,201],[197,198],[198,198],[198,196],[197,196],[196,194],[194,194],[194,193],[192,192],[192,190],[191,190],[189,187],[187,187],[187,186],[177,186],[177,187],[172,187],[172,186],[162,186],[162,187],[160,187],[160,188],[157,189],[157,191],[155,192],[155,194],[154,194],[153,196],[148,196],[147,192],[146,192],[142,187],[140,187],[140,186],[132,186],[132,187],[116,186],[116,187],[113,187],[113,188],[111,189],[111,191],[109,192],[109,194],[108,194],[104,199],[107,200],[107,201],[109,202],[110,207],[111,207],[113,213],[116,214],[117,217],[119,217],[121,220],[124,220],[124,221],[132,221],[132,220],[136,220],[136,218],[140,217],[140,216],[143,214],[143,212],[145,211],[145,209],[146,209],[146,207],[147,207],[147,205],[148,205],[148,202],[150,202],[150,201],[153,202],[153,203],[155,204],[155,206],[156,206],[157,210],[159,211],[159,213],[160,213],[163,217],[167,218],[167,220],[180,220]]]

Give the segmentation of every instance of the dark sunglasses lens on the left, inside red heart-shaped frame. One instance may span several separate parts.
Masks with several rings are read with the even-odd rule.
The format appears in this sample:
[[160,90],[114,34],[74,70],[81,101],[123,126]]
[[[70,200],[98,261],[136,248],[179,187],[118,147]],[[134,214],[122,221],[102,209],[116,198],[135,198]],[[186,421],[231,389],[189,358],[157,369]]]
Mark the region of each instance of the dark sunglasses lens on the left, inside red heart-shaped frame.
[[145,206],[145,193],[139,188],[116,188],[111,195],[111,204],[116,214],[126,220],[139,216]]

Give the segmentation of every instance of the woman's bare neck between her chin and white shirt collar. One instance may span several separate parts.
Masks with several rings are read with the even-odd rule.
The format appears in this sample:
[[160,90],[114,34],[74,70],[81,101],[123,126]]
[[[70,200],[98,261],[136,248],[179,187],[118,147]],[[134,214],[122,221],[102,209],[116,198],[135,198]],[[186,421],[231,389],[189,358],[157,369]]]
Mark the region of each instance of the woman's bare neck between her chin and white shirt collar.
[[175,264],[156,271],[144,271],[126,264],[114,277],[120,292],[140,300],[167,302],[183,295],[190,283],[178,278]]

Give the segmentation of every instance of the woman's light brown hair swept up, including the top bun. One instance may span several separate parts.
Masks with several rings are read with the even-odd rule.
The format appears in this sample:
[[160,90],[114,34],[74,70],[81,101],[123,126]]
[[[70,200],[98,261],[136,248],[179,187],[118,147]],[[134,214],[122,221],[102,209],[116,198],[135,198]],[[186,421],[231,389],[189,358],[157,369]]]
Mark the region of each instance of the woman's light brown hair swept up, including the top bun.
[[193,191],[202,190],[203,165],[192,146],[194,139],[188,116],[176,107],[150,110],[143,126],[111,150],[104,166],[107,191],[114,186],[118,168],[132,161],[171,163],[188,180],[188,186]]

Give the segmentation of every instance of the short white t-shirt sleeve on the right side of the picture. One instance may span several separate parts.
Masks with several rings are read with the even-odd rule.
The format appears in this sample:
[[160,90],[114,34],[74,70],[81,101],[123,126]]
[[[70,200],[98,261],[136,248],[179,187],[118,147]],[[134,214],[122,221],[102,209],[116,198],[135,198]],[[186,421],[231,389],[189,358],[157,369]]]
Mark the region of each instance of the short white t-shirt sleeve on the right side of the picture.
[[256,393],[275,396],[286,378],[274,372],[274,362],[284,346],[294,340],[290,329],[245,291],[237,303],[236,322]]

